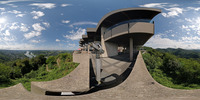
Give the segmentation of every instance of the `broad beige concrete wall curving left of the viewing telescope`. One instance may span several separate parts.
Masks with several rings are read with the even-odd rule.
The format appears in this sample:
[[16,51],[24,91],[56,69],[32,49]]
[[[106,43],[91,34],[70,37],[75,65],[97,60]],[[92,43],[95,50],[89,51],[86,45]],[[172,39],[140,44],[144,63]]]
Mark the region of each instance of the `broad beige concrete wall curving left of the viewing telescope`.
[[67,92],[89,90],[89,55],[73,54],[73,61],[80,63],[67,76],[46,82],[31,82],[31,92],[45,95],[46,91]]

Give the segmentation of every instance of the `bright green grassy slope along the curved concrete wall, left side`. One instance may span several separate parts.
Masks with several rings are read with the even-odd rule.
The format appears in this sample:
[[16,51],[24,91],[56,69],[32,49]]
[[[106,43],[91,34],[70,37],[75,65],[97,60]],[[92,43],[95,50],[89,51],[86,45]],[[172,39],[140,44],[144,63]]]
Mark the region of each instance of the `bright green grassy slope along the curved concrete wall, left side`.
[[[46,71],[46,67],[43,66],[37,71],[30,72],[23,78],[14,80],[14,82],[22,83],[23,86],[27,90],[30,91],[31,90],[31,81],[51,81],[51,80],[59,79],[61,77],[66,76],[71,71],[73,71],[77,65],[78,65],[77,63],[66,62],[66,63],[62,63],[61,67],[55,66],[55,68],[49,72]],[[35,77],[33,77],[33,76],[35,76]]]

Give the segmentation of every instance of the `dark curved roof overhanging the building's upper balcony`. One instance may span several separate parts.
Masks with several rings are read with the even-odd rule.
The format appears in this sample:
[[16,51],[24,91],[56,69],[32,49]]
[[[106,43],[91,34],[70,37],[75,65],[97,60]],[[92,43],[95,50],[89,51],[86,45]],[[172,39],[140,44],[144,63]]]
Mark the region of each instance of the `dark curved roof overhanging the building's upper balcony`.
[[154,8],[125,8],[112,11],[101,18],[97,27],[96,34],[100,34],[101,27],[111,27],[117,23],[133,19],[149,19],[161,13],[160,9]]

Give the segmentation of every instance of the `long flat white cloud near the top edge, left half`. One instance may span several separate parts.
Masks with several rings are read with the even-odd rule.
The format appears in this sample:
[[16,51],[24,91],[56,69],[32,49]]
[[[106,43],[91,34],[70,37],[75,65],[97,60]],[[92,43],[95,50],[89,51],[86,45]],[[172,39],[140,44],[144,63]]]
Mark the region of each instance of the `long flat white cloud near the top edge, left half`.
[[54,3],[33,3],[30,4],[31,6],[37,6],[41,9],[52,9],[54,7],[56,7],[56,5]]

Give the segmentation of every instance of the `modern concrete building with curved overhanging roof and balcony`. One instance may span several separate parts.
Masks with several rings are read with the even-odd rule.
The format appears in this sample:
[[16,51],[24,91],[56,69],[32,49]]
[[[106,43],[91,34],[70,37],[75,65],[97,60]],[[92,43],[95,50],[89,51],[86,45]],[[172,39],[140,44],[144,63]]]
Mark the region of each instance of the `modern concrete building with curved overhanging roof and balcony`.
[[[100,42],[105,51],[102,57],[118,55],[119,51],[128,52],[130,61],[139,47],[154,35],[152,19],[161,13],[153,8],[126,8],[112,11],[99,21],[96,28],[87,28],[87,35],[83,35],[80,46],[85,50],[91,42]],[[120,50],[119,50],[120,48]]]

